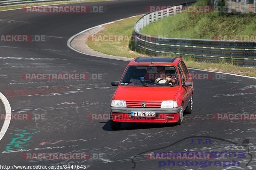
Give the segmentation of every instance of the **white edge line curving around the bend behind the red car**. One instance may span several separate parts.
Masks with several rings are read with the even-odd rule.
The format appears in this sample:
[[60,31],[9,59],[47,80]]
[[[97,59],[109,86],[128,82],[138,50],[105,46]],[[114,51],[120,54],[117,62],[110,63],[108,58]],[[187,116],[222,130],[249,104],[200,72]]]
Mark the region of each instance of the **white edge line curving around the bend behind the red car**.
[[[128,17],[128,18],[130,18],[130,17]],[[119,19],[119,20],[120,20],[120,19]],[[118,20],[115,20],[115,21],[112,21],[112,22],[116,22],[116,21],[118,21]],[[76,50],[75,48],[71,47],[71,45],[70,45],[71,41],[72,41],[74,38],[76,38],[76,36],[78,36],[78,35],[81,34],[81,33],[84,33],[84,32],[86,32],[86,31],[89,31],[89,30],[94,29],[94,28],[97,28],[97,27],[101,27],[101,26],[103,26],[103,25],[106,25],[106,24],[109,24],[109,23],[112,23],[112,22],[108,22],[108,23],[105,23],[105,24],[101,24],[101,25],[98,25],[98,26],[94,26],[94,27],[92,27],[92,28],[88,28],[88,29],[86,29],[86,30],[84,30],[84,31],[81,31],[81,32],[79,32],[79,33],[73,35],[73,36],[70,37],[70,38],[68,39],[68,41],[67,41],[68,47],[69,47],[70,49],[72,49],[72,50],[78,52],[78,53],[85,54],[85,55],[90,55],[90,54],[86,54],[86,53],[83,53],[83,52],[81,52],[81,51],[78,51],[78,50]],[[110,58],[110,57],[104,57],[104,56],[98,56],[98,55],[90,55],[90,56],[101,57],[101,58]],[[132,59],[132,58],[128,58],[128,57],[124,57],[124,58]],[[111,58],[111,59],[127,61],[127,60],[124,60],[124,59],[114,58],[114,57]],[[232,76],[239,76],[239,77],[245,77],[245,78],[253,78],[253,79],[256,79],[256,77],[243,76],[243,75],[233,74],[233,73],[225,73],[225,72],[219,72],[219,71],[209,71],[209,70],[202,70],[202,69],[194,69],[194,68],[189,68],[189,67],[188,67],[188,69],[191,69],[191,70],[199,70],[199,71],[208,71],[208,72],[213,72],[213,73],[221,73],[221,74],[228,74],[228,75],[232,75]]]

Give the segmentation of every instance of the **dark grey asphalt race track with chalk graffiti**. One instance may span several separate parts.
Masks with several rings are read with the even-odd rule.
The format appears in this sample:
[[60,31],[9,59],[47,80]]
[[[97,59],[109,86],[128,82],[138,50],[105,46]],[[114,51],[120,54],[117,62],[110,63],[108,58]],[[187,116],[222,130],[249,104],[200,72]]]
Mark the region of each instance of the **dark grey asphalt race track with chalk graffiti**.
[[[68,48],[69,37],[93,26],[146,13],[148,5],[185,2],[121,0],[74,4],[106,6],[105,13],[0,12],[0,34],[45,35],[46,40],[0,42],[0,92],[9,100],[12,113],[43,116],[38,120],[11,120],[0,141],[0,165],[86,165],[86,169],[120,170],[132,169],[134,165],[135,169],[152,170],[231,169],[213,164],[207,167],[181,163],[180,166],[168,166],[163,160],[148,160],[146,155],[149,152],[233,151],[245,153],[244,157],[236,158],[240,165],[232,166],[233,169],[256,169],[255,120],[213,118],[217,113],[255,114],[256,79],[190,70],[193,74],[209,74],[212,78],[193,81],[193,113],[184,115],[180,126],[124,123],[120,131],[112,131],[108,120],[90,120],[88,116],[90,113],[110,113],[110,100],[116,89],[110,82],[120,79],[128,62],[77,53]],[[102,74],[102,79],[22,79],[23,73],[65,72],[86,72],[90,78],[92,74]],[[0,107],[3,114],[3,104]],[[3,122],[1,119],[1,127]],[[211,143],[189,144],[192,139],[208,139]],[[175,143],[177,141],[180,142]],[[68,152],[89,153],[90,159],[24,159],[28,153]]]

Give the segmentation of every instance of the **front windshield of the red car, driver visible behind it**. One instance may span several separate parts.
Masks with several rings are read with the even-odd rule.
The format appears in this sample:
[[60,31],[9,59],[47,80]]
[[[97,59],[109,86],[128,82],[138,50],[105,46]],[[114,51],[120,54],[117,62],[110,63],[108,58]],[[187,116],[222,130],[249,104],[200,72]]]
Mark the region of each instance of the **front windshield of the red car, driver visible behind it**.
[[178,86],[179,81],[174,66],[129,66],[120,84],[173,87]]

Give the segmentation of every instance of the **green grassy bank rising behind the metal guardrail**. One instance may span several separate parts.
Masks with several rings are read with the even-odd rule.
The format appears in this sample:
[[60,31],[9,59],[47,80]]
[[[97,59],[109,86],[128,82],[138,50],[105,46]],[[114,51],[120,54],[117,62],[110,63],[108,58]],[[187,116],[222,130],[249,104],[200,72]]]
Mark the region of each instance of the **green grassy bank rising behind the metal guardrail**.
[[[208,4],[207,0],[198,0],[193,5]],[[151,23],[140,32],[173,38],[216,39],[216,35],[256,35],[255,23],[252,13],[184,12]]]

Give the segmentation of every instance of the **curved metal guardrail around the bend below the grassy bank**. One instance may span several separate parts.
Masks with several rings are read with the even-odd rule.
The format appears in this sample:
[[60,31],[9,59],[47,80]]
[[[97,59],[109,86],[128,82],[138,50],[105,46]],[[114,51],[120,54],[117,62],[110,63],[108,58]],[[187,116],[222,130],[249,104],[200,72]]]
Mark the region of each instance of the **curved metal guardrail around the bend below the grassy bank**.
[[183,5],[178,5],[141,17],[134,25],[134,35],[137,39],[134,42],[134,48],[139,52],[153,56],[190,56],[199,61],[228,61],[243,66],[256,67],[256,42],[165,38],[140,33],[140,30],[148,24],[175,15],[181,12],[182,8]]

